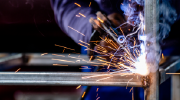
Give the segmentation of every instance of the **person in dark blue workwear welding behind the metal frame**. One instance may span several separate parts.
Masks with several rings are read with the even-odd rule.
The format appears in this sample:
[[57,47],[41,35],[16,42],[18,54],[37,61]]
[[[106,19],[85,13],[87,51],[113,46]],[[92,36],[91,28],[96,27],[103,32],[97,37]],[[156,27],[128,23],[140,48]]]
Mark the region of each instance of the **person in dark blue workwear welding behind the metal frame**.
[[[120,5],[123,3],[123,1],[124,0],[51,0],[51,6],[54,10],[55,20],[64,33],[71,37],[76,43],[80,43],[79,40],[90,43],[90,40],[99,40],[98,36],[102,36],[103,32],[98,31],[95,26],[92,26],[92,24],[89,22],[89,19],[96,19],[96,13],[101,11],[101,13],[107,15],[107,18],[114,26],[118,26],[124,23],[126,21],[126,16],[120,8]],[[163,41],[160,41],[160,45],[163,50],[162,52],[165,56],[179,54],[177,51],[180,50],[176,48],[180,43],[178,40],[179,37],[177,37],[178,35],[175,35],[175,32],[177,31],[176,26],[178,26],[180,22],[180,0],[168,1],[176,9],[177,19],[175,24],[170,24],[170,22],[167,22],[166,25],[168,27],[172,26],[172,29],[171,31],[168,31],[168,33],[170,33],[169,36],[163,39]],[[82,14],[83,16],[81,16]],[[78,32],[72,30],[72,28]],[[97,33],[93,33],[94,30],[97,30]],[[83,33],[84,35],[80,33]],[[176,34],[177,33],[178,32],[176,32]],[[94,49],[95,46],[92,46],[91,48]],[[82,53],[87,53],[84,52],[83,49],[84,48],[82,47]],[[88,55],[92,56],[93,54],[88,52]],[[89,71],[91,72],[96,70],[96,67],[92,67],[92,70]],[[96,91],[97,88],[99,90],[98,92]],[[129,90],[130,88],[126,89],[125,87],[91,86],[87,88],[85,97],[82,99],[96,100],[98,97],[100,97],[100,100],[131,100],[132,94],[129,93]],[[135,91],[136,90],[139,91],[139,95],[135,95],[135,98],[138,100],[143,100],[143,89],[135,88]]]

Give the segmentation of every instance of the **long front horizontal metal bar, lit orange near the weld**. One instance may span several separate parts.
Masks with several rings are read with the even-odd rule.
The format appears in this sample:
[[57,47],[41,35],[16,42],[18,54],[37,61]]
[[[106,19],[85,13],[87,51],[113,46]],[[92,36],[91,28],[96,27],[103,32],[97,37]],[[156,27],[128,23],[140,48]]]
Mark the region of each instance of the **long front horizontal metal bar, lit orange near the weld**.
[[0,72],[0,85],[142,87],[142,78],[138,74],[107,72]]

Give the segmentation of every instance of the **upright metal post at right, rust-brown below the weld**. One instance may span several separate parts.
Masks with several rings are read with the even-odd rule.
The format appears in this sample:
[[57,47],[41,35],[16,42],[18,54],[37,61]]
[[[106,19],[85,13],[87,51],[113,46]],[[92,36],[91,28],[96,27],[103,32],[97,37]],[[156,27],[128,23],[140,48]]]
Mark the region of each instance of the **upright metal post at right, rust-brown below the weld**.
[[[150,37],[157,37],[159,30],[159,0],[145,0],[145,34]],[[157,38],[156,38],[157,39]],[[156,57],[159,51],[159,43],[156,40],[153,44],[154,56],[152,69],[158,68]],[[147,76],[149,87],[145,88],[145,100],[159,100],[159,70],[151,71]]]

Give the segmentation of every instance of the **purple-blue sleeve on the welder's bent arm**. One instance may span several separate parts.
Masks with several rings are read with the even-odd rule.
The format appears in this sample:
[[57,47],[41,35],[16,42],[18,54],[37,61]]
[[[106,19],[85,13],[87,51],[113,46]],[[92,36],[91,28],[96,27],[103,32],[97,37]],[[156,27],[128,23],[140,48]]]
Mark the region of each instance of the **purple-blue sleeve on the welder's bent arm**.
[[[79,40],[89,42],[92,34],[91,17],[96,17],[99,8],[90,4],[92,0],[51,0],[55,20],[61,30],[71,37],[76,43]],[[92,3],[92,2],[91,2]],[[89,5],[91,5],[89,7]]]

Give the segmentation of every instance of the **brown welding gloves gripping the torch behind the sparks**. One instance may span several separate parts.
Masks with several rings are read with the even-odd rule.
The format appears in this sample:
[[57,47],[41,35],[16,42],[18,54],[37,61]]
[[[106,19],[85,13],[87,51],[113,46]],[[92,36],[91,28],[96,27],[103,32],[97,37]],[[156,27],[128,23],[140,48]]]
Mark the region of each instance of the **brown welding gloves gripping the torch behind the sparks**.
[[[110,49],[108,47],[108,46],[112,47],[112,45],[110,43],[106,43],[106,42],[102,41],[102,39],[101,39],[101,38],[104,38],[107,36],[107,33],[103,29],[101,23],[103,23],[107,27],[116,28],[119,25],[121,25],[122,23],[124,23],[125,19],[122,15],[120,15],[118,13],[112,13],[112,14],[106,16],[106,15],[102,14],[101,12],[97,12],[96,15],[97,15],[97,19],[91,18],[89,20],[89,22],[92,24],[92,26],[94,28],[94,32],[92,33],[91,38],[90,38],[89,48],[92,50],[98,51],[98,48],[100,46],[102,46],[106,49],[106,51],[104,51],[104,53],[112,52],[112,49]],[[97,42],[94,42],[94,41],[97,41]],[[112,39],[112,41],[113,41],[113,39]],[[97,46],[96,43],[99,46]],[[88,50],[88,56],[91,60],[95,59],[94,55],[95,55],[95,53],[93,51]],[[109,57],[105,57],[105,58],[109,58]]]

